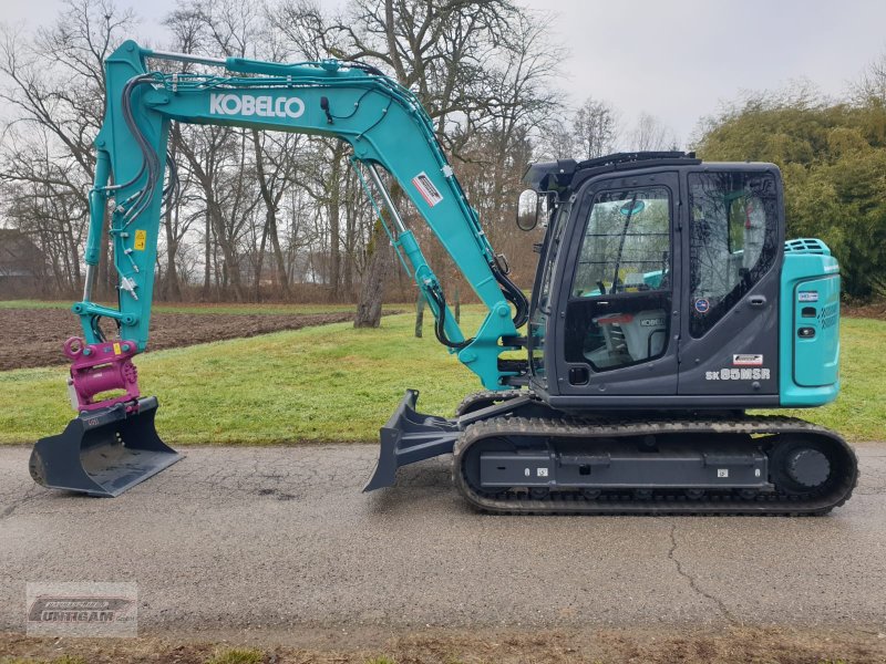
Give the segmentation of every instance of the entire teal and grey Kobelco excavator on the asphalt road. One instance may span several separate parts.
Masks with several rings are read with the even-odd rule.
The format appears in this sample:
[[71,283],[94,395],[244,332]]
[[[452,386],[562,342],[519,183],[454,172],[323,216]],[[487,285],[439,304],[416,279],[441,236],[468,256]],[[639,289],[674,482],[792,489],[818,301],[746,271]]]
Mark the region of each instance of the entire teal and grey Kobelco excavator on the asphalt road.
[[[105,72],[85,287],[73,305],[83,336],[64,344],[78,415],[34,445],[40,485],[117,496],[181,458],[157,435],[157,400],[142,396],[133,363],[147,346],[161,218],[176,195],[167,141],[177,122],[349,144],[436,339],[480,378],[484,390],[454,417],[419,413],[418,392],[406,391],[381,427],[364,490],[451,454],[457,491],[487,512],[803,516],[852,495],[857,459],[837,433],[748,413],[821,406],[839,391],[839,267],[820,240],[785,240],[776,166],[682,152],[530,165],[517,225],[540,224],[544,241],[527,298],[421,103],[379,70],[127,41]],[[450,311],[390,181],[485,308],[473,336]],[[116,308],[92,301],[105,229]],[[103,320],[116,324],[113,339]]]

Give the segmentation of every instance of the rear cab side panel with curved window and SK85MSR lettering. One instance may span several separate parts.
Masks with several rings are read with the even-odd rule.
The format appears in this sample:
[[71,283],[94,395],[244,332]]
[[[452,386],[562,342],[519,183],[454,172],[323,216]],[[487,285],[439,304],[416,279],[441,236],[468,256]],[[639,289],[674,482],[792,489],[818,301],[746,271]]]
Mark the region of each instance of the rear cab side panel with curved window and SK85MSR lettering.
[[679,394],[777,395],[784,224],[775,166],[687,174]]

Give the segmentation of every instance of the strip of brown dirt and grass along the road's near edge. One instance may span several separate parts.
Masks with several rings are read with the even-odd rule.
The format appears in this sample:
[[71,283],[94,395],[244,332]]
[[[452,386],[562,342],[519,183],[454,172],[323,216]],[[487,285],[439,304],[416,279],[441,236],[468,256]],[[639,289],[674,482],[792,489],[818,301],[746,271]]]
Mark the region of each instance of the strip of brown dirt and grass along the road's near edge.
[[[383,634],[384,630],[379,630]],[[299,633],[292,630],[292,636]],[[341,634],[341,632],[339,632]],[[347,633],[346,633],[347,634]],[[508,663],[576,664],[867,664],[886,661],[886,635],[877,630],[724,627],[610,629],[594,632],[517,631],[425,632],[381,636],[372,645],[347,645],[349,637],[326,640],[320,645],[269,645],[247,641],[193,641],[188,639],[27,639],[0,634],[0,663],[68,662],[122,664],[163,662],[204,664],[220,662],[265,664],[391,664]],[[231,649],[258,651],[255,658]],[[4,658],[6,655],[8,658]],[[220,655],[220,656],[219,656]],[[224,655],[227,655],[225,657]],[[80,660],[75,658],[80,657]]]

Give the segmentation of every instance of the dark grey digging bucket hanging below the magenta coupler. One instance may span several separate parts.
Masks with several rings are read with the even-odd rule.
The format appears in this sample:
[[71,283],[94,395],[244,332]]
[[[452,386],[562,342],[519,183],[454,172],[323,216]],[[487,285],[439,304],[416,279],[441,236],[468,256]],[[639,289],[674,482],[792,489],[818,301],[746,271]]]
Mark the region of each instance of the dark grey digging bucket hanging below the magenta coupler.
[[51,488],[90,496],[120,496],[169,467],[182,455],[154,428],[157,398],[82,413],[58,436],[40,438],[31,452],[31,477]]

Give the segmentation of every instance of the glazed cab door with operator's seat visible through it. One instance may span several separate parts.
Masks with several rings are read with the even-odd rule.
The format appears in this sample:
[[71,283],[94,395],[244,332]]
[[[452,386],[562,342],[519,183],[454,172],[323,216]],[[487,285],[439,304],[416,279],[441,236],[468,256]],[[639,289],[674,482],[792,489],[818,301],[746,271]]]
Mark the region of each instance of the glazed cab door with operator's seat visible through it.
[[591,180],[579,193],[559,271],[560,395],[677,393],[679,199],[676,172]]

